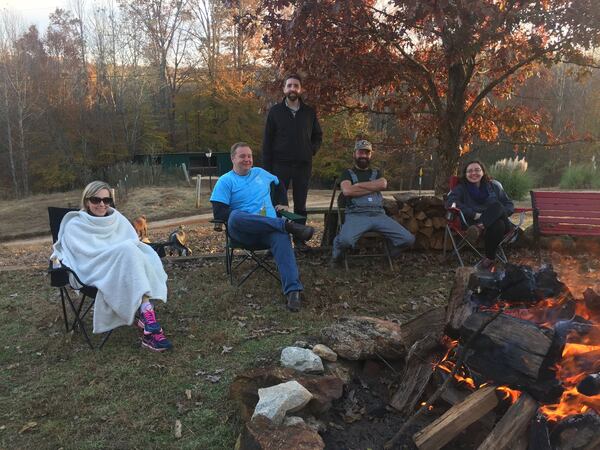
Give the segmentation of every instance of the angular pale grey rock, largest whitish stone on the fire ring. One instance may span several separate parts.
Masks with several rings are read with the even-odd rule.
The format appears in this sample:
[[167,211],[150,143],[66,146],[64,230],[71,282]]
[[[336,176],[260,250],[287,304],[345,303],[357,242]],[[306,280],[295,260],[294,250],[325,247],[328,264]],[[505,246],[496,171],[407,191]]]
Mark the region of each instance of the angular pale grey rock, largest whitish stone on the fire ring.
[[257,416],[269,419],[280,425],[287,412],[302,409],[313,395],[295,380],[258,390],[258,403],[252,420]]

